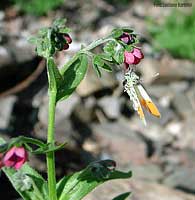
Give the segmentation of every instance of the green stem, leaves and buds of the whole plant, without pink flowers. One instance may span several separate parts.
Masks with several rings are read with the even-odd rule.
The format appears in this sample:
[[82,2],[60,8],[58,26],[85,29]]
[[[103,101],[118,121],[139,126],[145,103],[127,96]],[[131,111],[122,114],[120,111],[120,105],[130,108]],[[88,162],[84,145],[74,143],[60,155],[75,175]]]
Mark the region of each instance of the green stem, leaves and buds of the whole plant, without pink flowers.
[[[49,198],[53,200],[81,200],[94,188],[108,180],[126,179],[132,175],[131,171],[125,173],[115,170],[116,163],[114,161],[103,160],[93,162],[82,171],[62,178],[56,187],[53,152],[65,145],[63,143],[56,146],[53,141],[57,102],[68,98],[76,90],[86,74],[90,58],[94,69],[100,76],[100,69],[110,72],[112,71],[110,65],[122,64],[124,62],[124,51],[131,49],[137,41],[126,44],[120,40],[121,34],[124,31],[132,33],[131,29],[114,29],[107,37],[96,40],[87,47],[82,47],[59,70],[55,64],[54,55],[57,51],[65,50],[66,48],[63,48],[64,44],[68,44],[64,39],[64,34],[67,34],[70,29],[66,27],[65,22],[66,20],[56,20],[51,27],[41,29],[36,37],[30,39],[30,42],[36,45],[37,54],[47,61],[49,82],[49,139],[47,143],[23,136],[13,138],[9,143],[5,143],[0,138],[0,152],[2,153],[6,153],[12,146],[24,146],[31,153],[44,153],[47,156],[48,182],[28,164],[23,165],[18,171],[3,167],[4,173],[24,200],[48,200]],[[104,43],[106,44],[103,53],[95,54],[92,52],[94,48]],[[128,195],[129,193],[119,195],[114,200],[125,200]]]

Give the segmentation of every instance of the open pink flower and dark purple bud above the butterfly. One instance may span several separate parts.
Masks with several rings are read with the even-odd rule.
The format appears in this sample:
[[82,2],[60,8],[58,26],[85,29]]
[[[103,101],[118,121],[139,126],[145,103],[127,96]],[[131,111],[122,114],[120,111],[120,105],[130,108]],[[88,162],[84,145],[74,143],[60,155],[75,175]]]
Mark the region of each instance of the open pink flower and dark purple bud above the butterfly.
[[[124,42],[125,44],[133,44],[135,42],[135,35],[134,34],[129,34],[129,33],[123,33],[120,37],[119,40]],[[132,51],[126,51],[124,52],[124,64],[126,69],[129,69],[129,65],[137,65],[141,59],[144,58],[144,55],[142,51],[134,47]]]

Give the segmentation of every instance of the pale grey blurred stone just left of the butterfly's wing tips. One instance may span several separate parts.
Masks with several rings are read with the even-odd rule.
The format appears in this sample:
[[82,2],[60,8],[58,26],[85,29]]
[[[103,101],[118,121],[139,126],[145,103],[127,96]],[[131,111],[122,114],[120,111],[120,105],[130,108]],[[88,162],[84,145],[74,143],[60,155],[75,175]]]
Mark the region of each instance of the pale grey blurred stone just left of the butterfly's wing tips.
[[120,102],[115,96],[106,96],[98,101],[98,105],[109,119],[117,119],[120,116]]

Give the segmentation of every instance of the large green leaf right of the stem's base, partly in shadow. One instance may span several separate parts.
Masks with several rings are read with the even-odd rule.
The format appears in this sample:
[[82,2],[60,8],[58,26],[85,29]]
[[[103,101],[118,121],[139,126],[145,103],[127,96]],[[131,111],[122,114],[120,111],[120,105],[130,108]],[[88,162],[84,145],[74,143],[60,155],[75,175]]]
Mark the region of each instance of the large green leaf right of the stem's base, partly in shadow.
[[[98,173],[96,173],[98,172]],[[130,172],[111,170],[103,161],[90,164],[86,169],[64,177],[57,184],[59,200],[81,200],[94,188],[112,179],[126,179],[132,175]]]

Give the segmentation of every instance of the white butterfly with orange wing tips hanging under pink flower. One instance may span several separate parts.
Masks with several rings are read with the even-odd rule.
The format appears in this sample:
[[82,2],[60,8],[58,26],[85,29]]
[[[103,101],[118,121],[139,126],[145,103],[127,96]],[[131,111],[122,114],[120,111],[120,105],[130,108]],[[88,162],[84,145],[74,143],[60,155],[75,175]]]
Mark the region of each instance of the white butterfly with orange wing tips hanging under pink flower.
[[146,90],[140,83],[140,77],[132,70],[125,73],[125,80],[123,82],[124,91],[133,102],[133,108],[137,111],[140,119],[146,125],[145,115],[143,108],[149,111],[153,116],[160,118],[160,112],[156,105],[147,94]]

